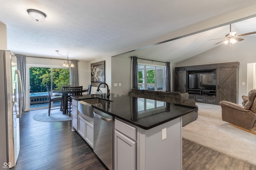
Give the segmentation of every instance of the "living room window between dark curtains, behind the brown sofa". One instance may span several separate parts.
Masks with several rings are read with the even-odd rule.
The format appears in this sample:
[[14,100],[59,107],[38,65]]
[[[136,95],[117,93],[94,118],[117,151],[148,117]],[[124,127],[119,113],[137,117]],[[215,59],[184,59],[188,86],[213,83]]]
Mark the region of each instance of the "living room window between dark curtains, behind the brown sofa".
[[165,90],[165,67],[138,64],[138,89]]

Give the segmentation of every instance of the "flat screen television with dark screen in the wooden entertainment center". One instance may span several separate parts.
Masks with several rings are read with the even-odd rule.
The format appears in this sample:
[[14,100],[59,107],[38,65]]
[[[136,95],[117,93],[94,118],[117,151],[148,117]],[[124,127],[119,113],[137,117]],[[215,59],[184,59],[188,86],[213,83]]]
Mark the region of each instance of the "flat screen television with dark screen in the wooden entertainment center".
[[188,74],[188,88],[202,90],[216,90],[216,73]]

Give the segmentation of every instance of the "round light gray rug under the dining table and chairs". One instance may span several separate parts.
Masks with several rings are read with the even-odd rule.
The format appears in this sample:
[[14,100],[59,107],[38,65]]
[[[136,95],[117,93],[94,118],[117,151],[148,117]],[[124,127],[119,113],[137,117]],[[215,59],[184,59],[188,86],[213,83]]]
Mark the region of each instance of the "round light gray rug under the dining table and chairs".
[[57,122],[57,121],[71,121],[72,117],[69,117],[69,114],[62,114],[60,109],[51,110],[50,116],[48,116],[48,109],[42,109],[42,112],[36,113],[33,117],[37,121],[46,121],[46,122]]

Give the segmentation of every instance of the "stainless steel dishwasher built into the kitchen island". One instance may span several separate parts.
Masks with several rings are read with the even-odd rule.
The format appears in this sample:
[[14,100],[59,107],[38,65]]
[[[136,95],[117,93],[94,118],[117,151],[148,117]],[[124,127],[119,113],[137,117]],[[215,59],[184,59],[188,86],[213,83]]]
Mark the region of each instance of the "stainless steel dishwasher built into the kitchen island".
[[93,109],[94,153],[112,170],[113,167],[113,117]]

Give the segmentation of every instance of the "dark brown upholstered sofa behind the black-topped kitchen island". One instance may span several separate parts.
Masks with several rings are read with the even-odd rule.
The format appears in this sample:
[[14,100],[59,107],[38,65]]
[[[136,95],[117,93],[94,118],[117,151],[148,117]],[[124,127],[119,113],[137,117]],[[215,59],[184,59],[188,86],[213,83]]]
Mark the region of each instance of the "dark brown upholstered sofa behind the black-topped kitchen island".
[[[194,100],[188,99],[188,93],[139,90],[133,88],[129,92],[129,96],[197,107]],[[195,121],[197,117],[197,111],[184,115],[182,117],[182,126]]]

